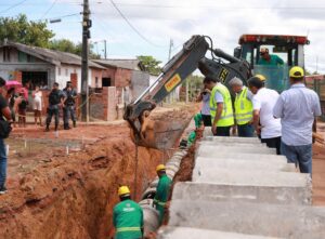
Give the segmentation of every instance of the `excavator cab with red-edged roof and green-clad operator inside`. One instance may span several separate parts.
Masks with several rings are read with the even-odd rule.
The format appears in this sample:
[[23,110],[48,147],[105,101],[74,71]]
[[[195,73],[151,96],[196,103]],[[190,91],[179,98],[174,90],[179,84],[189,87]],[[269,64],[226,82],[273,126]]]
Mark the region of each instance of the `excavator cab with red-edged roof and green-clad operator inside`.
[[[265,85],[281,93],[288,89],[288,72],[292,66],[304,67],[304,45],[310,41],[303,36],[243,35],[234,56],[250,64],[252,75],[265,76]],[[268,51],[265,61],[263,55]]]

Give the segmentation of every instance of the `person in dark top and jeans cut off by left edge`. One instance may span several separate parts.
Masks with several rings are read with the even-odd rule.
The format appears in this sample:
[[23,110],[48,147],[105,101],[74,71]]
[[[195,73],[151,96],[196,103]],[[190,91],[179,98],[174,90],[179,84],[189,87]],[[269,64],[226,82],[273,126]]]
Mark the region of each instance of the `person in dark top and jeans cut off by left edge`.
[[8,102],[3,97],[5,80],[0,77],[0,195],[6,192],[5,178],[6,178],[6,148],[4,138],[9,136],[11,131],[10,120],[11,112],[8,107]]

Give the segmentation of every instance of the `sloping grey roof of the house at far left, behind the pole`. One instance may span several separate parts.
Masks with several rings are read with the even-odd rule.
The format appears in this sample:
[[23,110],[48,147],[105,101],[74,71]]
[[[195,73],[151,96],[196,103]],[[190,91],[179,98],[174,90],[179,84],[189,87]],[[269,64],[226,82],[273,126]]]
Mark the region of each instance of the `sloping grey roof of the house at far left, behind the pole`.
[[[17,42],[6,42],[5,44],[0,45],[0,48],[2,47],[16,48],[21,52],[25,52],[27,54],[34,55],[46,62],[50,62],[54,65],[61,65],[62,63],[64,63],[64,64],[81,66],[81,57],[79,55],[72,54],[68,52],[61,52],[61,51],[55,51],[50,49],[37,48],[37,47],[26,45]],[[89,67],[105,69],[105,67],[94,63],[93,61],[89,61]]]

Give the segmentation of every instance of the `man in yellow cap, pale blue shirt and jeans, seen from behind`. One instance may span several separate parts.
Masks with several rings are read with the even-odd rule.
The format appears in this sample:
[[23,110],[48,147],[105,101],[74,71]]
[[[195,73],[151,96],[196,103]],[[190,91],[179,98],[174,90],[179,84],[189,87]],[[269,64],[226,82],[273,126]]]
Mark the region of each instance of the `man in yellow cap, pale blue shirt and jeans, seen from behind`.
[[304,71],[295,66],[289,71],[290,89],[282,92],[273,115],[281,118],[281,152],[301,173],[312,173],[312,128],[322,115],[318,95],[303,84]]

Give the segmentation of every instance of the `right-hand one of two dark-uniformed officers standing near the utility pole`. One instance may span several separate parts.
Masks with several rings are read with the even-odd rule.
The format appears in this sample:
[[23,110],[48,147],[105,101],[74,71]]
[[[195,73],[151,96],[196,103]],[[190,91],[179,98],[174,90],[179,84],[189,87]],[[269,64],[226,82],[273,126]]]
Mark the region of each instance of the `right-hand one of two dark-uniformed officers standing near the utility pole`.
[[76,97],[77,93],[73,89],[73,84],[70,81],[66,83],[66,88],[63,90],[64,93],[64,105],[63,105],[63,121],[64,129],[69,130],[69,117],[72,117],[74,127],[76,127]]

